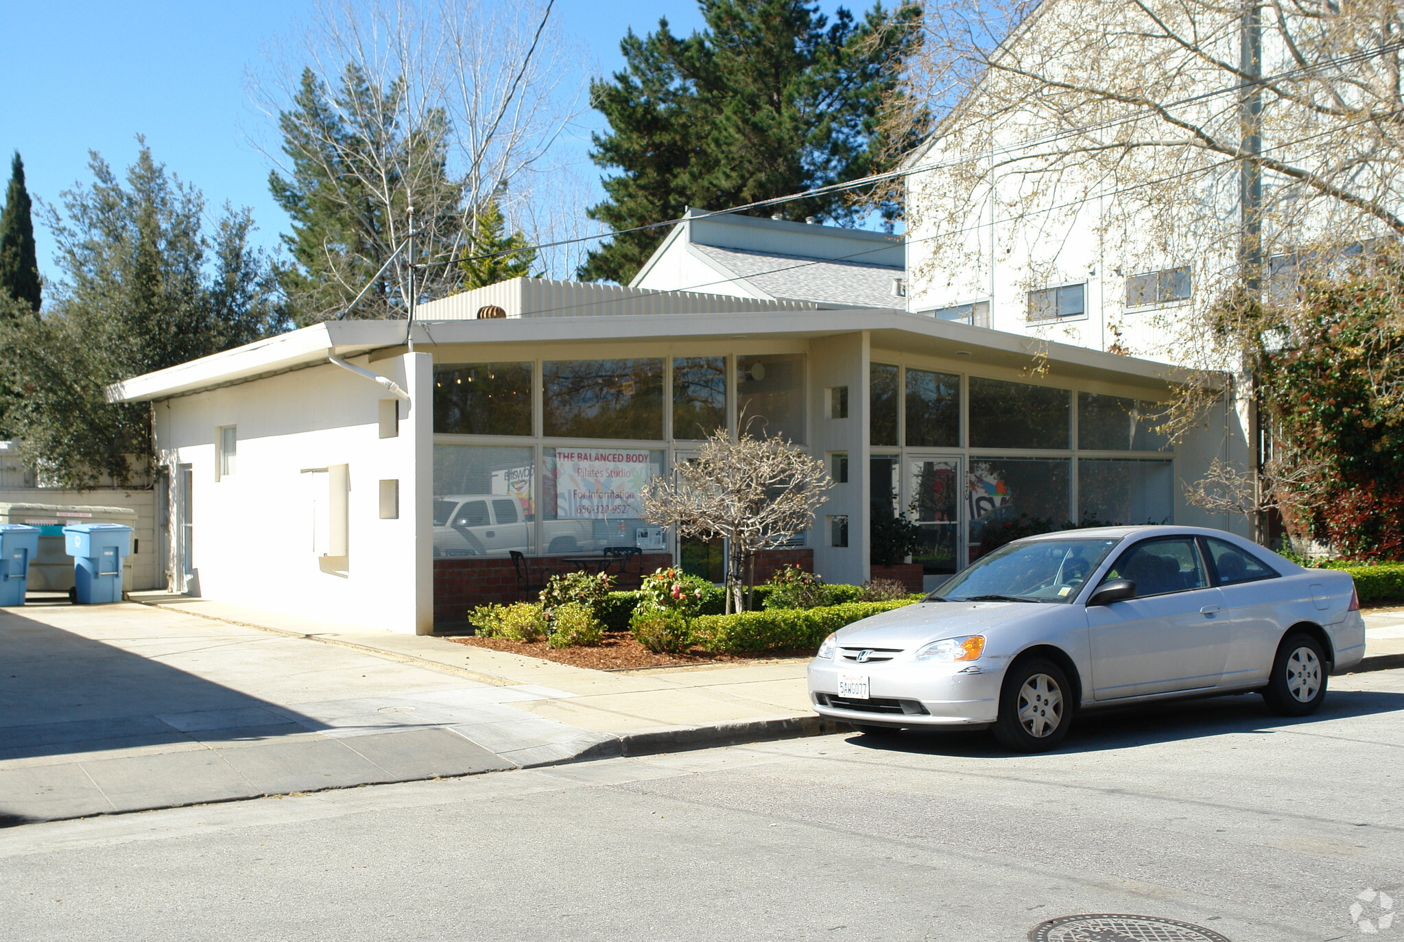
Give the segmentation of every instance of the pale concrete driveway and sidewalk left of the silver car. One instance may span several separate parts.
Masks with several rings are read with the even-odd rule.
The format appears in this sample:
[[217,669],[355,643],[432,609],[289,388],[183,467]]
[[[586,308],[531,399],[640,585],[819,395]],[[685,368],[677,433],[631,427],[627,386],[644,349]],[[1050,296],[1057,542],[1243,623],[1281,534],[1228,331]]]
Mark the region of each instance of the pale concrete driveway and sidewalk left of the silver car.
[[0,823],[841,729],[799,661],[608,674],[199,599],[0,609]]

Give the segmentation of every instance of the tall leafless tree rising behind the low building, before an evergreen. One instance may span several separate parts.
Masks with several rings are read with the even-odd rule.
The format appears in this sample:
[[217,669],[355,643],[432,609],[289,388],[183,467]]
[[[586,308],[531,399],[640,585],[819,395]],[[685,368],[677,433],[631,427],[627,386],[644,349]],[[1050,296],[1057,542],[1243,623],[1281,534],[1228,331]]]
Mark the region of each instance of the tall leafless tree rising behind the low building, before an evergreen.
[[[490,199],[510,225],[528,218],[536,174],[556,170],[553,149],[585,107],[581,56],[552,4],[322,0],[298,41],[250,76],[256,108],[279,129],[277,147],[260,146],[275,195],[282,184],[295,191],[285,204],[320,211],[300,226],[293,212],[293,241],[310,241],[293,253],[313,282],[299,292],[305,320],[344,310],[403,243],[411,202],[431,263],[472,251]],[[421,296],[458,286],[453,264],[418,272]],[[406,274],[400,258],[358,316],[403,316]]]

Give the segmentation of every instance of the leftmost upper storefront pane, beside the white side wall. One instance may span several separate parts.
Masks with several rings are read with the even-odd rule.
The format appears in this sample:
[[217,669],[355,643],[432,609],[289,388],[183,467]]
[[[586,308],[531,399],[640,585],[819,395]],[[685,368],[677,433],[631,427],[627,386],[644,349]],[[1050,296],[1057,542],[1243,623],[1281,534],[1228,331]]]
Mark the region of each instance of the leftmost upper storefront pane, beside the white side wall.
[[459,364],[434,369],[434,431],[531,435],[532,364]]

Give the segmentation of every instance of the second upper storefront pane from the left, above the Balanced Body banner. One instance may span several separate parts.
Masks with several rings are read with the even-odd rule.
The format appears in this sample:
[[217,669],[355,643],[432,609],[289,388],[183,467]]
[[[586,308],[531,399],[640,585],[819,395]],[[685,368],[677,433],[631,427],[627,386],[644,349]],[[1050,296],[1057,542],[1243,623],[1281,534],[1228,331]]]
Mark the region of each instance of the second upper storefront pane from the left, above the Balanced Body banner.
[[545,432],[559,438],[663,438],[661,359],[542,365]]

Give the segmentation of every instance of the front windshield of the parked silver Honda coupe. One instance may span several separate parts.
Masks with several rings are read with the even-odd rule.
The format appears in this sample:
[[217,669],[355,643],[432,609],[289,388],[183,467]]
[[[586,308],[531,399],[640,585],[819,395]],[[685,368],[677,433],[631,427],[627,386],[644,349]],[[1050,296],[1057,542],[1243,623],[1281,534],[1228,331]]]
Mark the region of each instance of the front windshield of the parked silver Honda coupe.
[[931,601],[1071,602],[1118,539],[1008,543],[946,580]]

